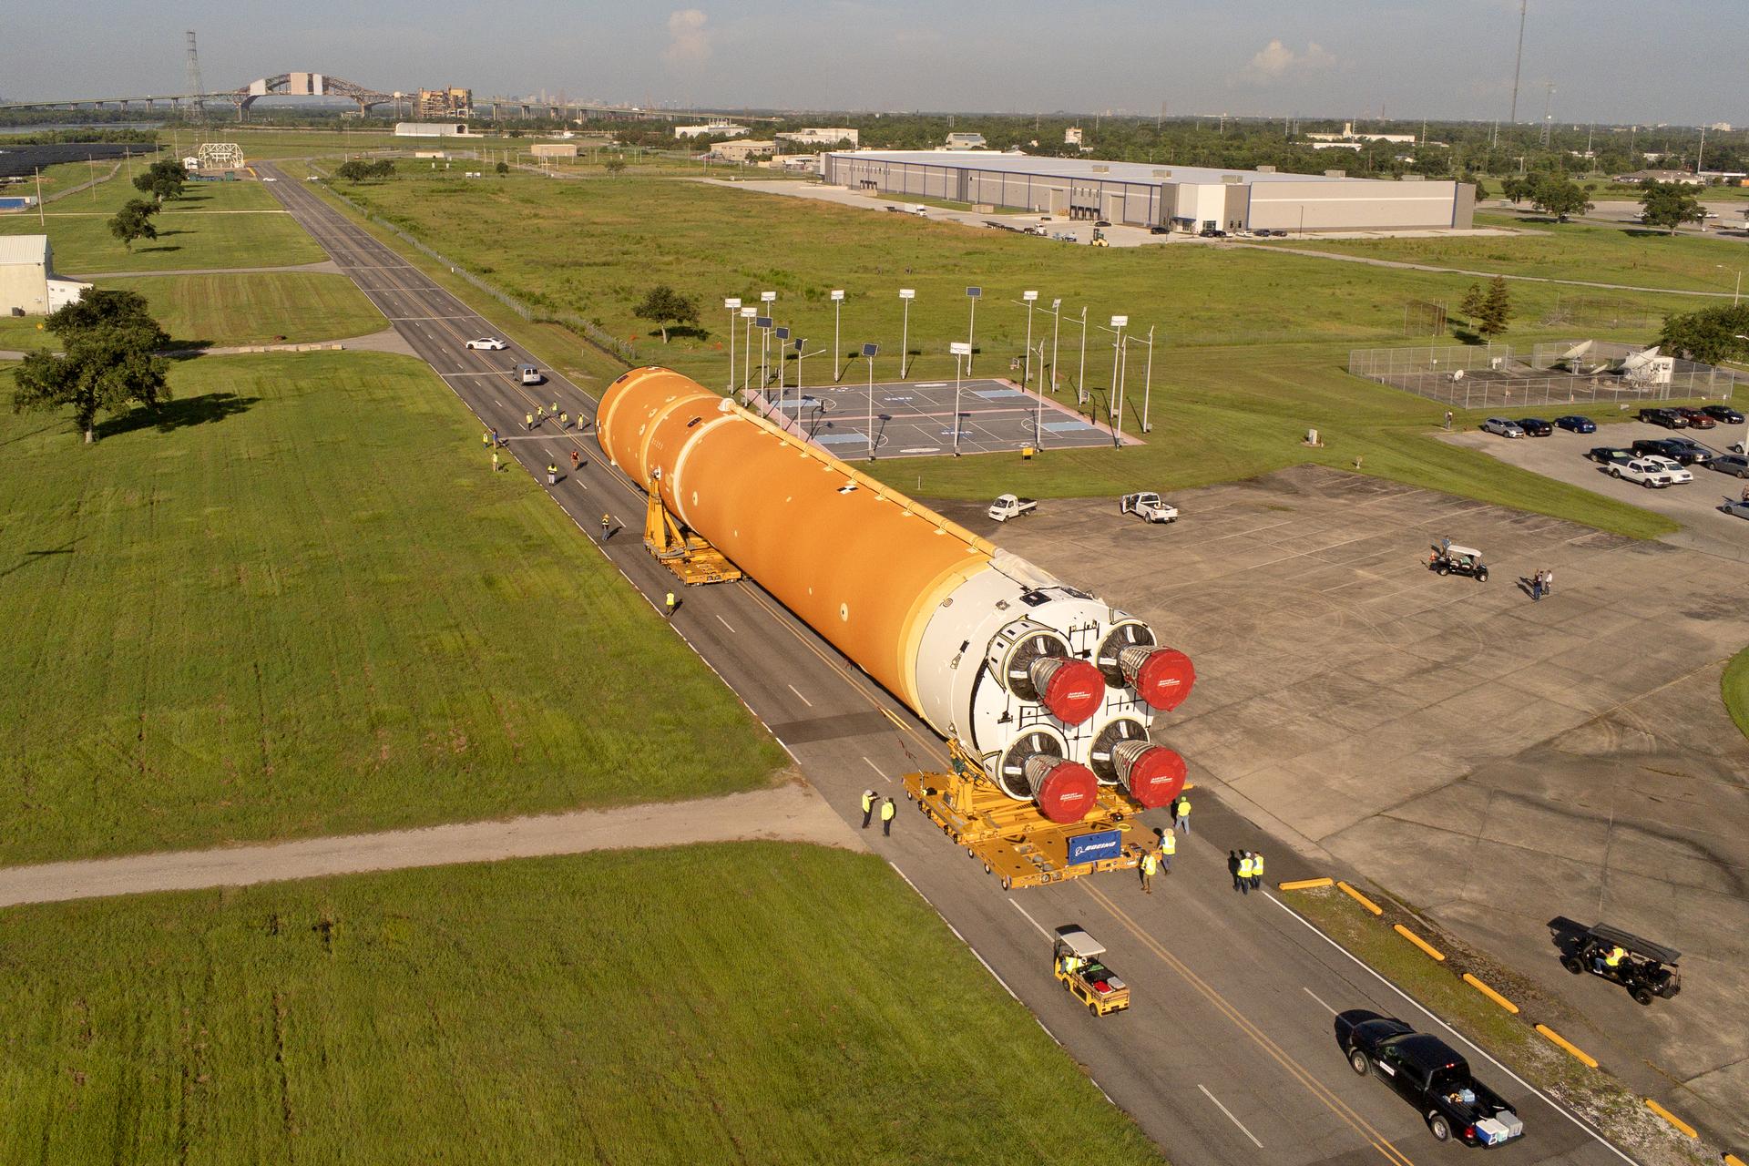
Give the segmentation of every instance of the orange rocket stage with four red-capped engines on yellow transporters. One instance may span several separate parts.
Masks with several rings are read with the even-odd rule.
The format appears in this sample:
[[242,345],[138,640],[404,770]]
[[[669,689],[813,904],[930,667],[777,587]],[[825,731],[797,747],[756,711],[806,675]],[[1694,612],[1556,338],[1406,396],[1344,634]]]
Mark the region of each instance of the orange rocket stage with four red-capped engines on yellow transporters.
[[614,381],[596,437],[651,489],[652,552],[719,552],[951,743],[960,773],[908,788],[957,841],[1065,827],[1046,865],[1133,865],[1111,827],[1182,788],[1149,722],[1195,682],[1147,624],[668,369]]

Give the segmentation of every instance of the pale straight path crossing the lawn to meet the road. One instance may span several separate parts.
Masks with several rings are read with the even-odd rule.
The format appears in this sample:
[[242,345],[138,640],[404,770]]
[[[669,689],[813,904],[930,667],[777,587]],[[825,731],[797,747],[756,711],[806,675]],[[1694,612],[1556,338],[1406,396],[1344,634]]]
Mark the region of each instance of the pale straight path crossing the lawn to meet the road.
[[826,804],[826,799],[798,781],[689,802],[10,867],[0,869],[0,907],[143,892],[245,886],[360,871],[437,867],[455,862],[743,839],[862,848],[857,832]]

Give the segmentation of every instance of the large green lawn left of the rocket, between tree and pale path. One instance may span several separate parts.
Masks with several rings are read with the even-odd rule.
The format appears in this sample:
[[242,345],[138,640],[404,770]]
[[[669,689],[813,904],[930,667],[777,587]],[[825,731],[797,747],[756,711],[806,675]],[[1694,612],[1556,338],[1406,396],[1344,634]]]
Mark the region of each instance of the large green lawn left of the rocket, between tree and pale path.
[[[0,862],[763,785],[782,750],[423,364],[0,414]],[[0,372],[0,395],[10,374]]]

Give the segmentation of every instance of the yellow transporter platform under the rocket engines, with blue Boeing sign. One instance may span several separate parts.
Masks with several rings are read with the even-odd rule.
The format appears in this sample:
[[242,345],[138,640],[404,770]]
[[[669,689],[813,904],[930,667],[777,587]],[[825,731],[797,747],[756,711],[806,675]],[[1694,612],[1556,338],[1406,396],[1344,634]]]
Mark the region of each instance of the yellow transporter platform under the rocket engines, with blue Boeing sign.
[[904,795],[972,858],[1002,890],[1062,883],[1097,871],[1133,871],[1142,846],[1128,841],[1130,818],[1146,806],[1114,785],[1098,787],[1081,822],[1051,822],[992,781],[978,760],[948,741],[948,773],[904,774]]

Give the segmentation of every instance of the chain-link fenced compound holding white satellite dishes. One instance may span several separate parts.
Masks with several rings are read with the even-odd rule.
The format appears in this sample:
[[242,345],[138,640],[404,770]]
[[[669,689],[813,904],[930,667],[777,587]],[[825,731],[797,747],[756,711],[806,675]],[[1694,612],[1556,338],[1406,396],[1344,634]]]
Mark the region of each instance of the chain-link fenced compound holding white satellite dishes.
[[1422,344],[1355,348],[1354,376],[1408,390],[1453,409],[1516,409],[1522,406],[1616,404],[1712,399],[1730,400],[1749,378],[1693,360],[1676,360],[1669,378],[1649,379],[1625,371],[1635,344],[1551,341],[1529,351],[1511,344]]

